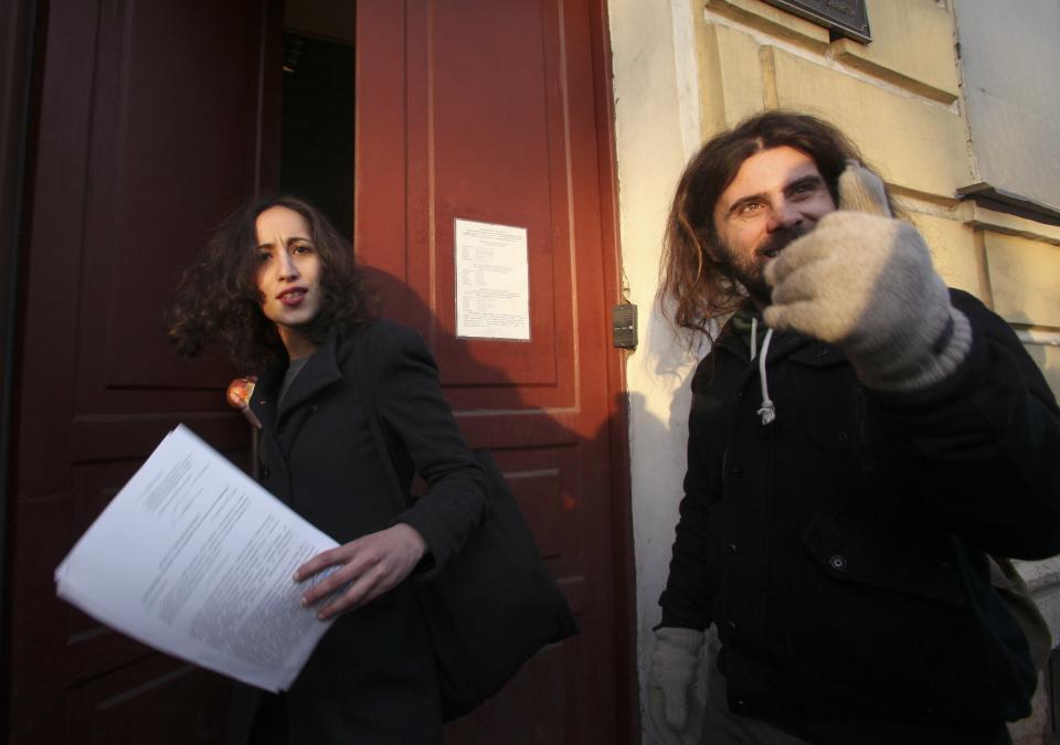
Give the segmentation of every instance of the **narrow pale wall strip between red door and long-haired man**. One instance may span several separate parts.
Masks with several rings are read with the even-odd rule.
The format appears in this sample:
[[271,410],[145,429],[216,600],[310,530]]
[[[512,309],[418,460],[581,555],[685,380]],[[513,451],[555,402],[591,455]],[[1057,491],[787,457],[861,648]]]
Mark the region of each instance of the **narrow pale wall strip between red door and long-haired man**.
[[[695,358],[655,304],[674,188],[700,143],[699,83],[690,0],[611,0],[618,212],[623,268],[639,312],[627,361],[633,524],[642,691],[659,621],[677,523]],[[654,743],[644,712],[645,743]]]

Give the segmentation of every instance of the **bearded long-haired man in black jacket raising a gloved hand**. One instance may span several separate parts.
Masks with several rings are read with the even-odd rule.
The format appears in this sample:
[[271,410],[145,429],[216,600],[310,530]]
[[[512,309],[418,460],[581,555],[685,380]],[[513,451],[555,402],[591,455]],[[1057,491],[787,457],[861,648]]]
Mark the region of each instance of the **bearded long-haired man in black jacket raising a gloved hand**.
[[898,214],[802,114],[681,177],[659,297],[712,345],[649,673],[668,744],[994,745],[1030,712],[1049,645],[990,572],[1060,553],[1060,411]]

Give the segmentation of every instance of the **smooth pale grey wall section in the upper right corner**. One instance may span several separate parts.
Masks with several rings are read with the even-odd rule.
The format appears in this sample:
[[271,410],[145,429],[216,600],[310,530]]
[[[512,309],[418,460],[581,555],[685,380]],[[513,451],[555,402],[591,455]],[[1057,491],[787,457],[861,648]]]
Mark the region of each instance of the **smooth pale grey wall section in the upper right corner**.
[[978,180],[1060,209],[1060,0],[955,0]]

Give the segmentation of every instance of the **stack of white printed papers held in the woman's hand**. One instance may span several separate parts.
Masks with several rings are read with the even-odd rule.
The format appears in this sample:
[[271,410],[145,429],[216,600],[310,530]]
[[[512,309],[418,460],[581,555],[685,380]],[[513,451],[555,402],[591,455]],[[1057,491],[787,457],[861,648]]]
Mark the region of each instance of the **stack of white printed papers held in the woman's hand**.
[[330,622],[295,568],[336,544],[183,425],[166,436],[55,570],[59,596],[189,662],[269,691]]

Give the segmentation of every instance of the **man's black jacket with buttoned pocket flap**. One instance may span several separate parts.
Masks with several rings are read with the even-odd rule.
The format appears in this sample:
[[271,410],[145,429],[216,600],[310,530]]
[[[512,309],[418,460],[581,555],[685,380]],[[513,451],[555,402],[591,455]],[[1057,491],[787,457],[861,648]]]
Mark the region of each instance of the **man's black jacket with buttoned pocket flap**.
[[1060,412],[1011,329],[971,321],[931,390],[863,389],[836,347],[777,334],[776,421],[727,326],[692,379],[662,625],[717,625],[730,707],[814,743],[1007,742],[1035,671],[984,552],[1060,552]]

